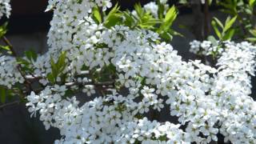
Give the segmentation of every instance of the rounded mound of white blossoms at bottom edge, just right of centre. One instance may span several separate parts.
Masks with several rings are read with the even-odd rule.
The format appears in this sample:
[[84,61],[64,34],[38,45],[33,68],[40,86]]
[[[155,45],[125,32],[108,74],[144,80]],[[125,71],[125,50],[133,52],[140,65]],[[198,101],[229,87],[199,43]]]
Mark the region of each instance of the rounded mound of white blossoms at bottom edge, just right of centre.
[[[163,124],[147,118],[127,122],[119,131],[118,143],[188,143],[186,138],[189,134],[179,129],[179,125],[170,122]],[[159,139],[168,139],[166,142]]]

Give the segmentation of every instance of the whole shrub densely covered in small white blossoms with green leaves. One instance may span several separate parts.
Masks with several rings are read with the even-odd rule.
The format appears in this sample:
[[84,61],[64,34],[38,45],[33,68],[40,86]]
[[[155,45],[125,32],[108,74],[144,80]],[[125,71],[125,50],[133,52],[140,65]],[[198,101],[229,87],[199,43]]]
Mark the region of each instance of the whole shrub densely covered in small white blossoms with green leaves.
[[[121,13],[115,6],[103,17],[111,6],[110,0],[50,0],[49,51],[17,58],[7,46],[13,56],[0,57],[0,85],[25,94],[31,116],[39,114],[46,130],[60,130],[55,143],[208,143],[217,134],[226,142],[256,143],[255,46],[194,41],[192,52],[217,63],[185,62],[163,41],[174,34],[166,29],[174,7],[158,1]],[[79,102],[79,93],[92,100]],[[145,116],[166,107],[179,124]]]

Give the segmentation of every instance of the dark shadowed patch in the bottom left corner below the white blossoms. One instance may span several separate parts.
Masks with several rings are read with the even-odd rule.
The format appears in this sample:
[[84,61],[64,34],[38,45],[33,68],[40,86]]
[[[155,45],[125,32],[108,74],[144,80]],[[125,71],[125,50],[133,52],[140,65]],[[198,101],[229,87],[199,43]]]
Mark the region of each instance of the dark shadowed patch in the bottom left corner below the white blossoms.
[[0,111],[0,143],[49,144],[60,138],[59,130],[45,130],[37,118],[30,118],[24,104]]

